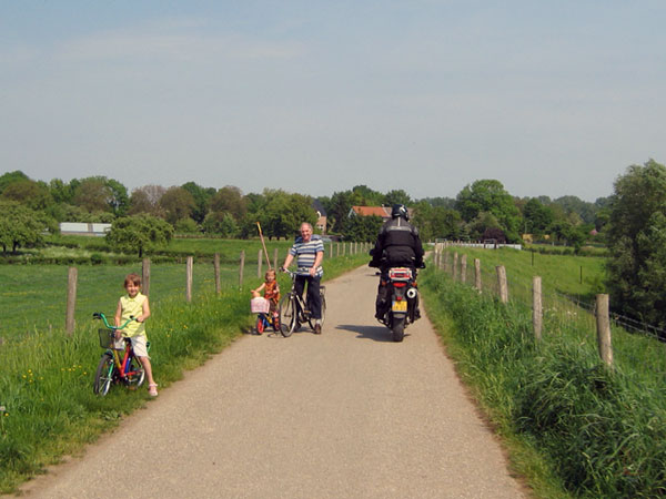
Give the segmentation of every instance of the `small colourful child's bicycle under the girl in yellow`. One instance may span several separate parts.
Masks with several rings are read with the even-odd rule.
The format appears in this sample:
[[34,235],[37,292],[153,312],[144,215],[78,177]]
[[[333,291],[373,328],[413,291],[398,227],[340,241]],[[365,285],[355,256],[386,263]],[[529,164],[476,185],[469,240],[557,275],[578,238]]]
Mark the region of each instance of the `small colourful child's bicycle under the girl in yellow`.
[[[128,324],[134,320],[130,317],[122,326],[111,326],[107,317],[101,312],[92,314],[95,319],[101,319],[105,328],[99,329],[100,346],[107,352],[102,354],[94,374],[93,391],[97,395],[104,396],[109,393],[112,383],[123,383],[130,389],[137,389],[143,385],[145,371],[143,365],[134,355],[132,342],[130,338],[123,338],[124,348],[117,348],[115,332],[124,329]],[[150,343],[148,344],[150,349]]]

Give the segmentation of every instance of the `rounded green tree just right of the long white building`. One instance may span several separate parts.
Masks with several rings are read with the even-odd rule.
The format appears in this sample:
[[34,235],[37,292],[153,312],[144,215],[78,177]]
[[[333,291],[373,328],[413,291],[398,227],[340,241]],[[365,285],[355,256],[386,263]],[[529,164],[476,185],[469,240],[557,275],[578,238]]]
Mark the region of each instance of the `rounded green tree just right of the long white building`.
[[151,215],[132,215],[117,218],[107,234],[107,243],[113,251],[127,254],[144,253],[165,246],[173,237],[173,227]]

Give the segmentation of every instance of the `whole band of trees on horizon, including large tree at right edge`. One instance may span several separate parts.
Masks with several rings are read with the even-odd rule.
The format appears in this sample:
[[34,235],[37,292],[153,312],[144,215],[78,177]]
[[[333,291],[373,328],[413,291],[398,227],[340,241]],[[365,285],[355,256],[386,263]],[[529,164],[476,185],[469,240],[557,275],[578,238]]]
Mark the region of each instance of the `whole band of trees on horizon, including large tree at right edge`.
[[[139,254],[168,242],[174,233],[230,238],[256,235],[260,222],[269,237],[293,237],[301,222],[315,225],[317,214],[306,194],[265,189],[243,194],[239,187],[203,187],[194,182],[164,187],[144,185],[131,193],[105,176],[50,182],[23,172],[0,176],[0,244],[3,253],[38,246],[59,222],[112,223],[107,240],[118,251]],[[352,206],[412,208],[423,241],[435,238],[566,244],[586,241],[609,252],[607,287],[613,307],[666,328],[666,167],[654,160],[632,165],[614,193],[594,203],[576,196],[512,196],[497,180],[478,180],[455,198],[412,198],[403,190],[386,193],[366,185],[316,200],[327,214],[326,233],[346,241],[374,241],[379,216],[350,216]],[[666,336],[666,334],[665,334]]]

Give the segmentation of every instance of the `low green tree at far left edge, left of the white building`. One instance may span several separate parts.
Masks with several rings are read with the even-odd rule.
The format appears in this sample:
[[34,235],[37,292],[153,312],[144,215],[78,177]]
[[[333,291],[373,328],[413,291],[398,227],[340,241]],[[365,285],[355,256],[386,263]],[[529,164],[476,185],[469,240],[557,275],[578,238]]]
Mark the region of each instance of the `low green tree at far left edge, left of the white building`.
[[56,221],[13,201],[0,201],[0,244],[2,252],[11,247],[38,246],[43,242],[43,233],[58,232]]

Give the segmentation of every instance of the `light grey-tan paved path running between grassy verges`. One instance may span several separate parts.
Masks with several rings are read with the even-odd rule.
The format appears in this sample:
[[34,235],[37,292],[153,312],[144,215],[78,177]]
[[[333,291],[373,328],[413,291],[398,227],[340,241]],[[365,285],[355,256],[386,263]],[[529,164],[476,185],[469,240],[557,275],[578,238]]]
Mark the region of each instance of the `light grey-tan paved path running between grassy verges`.
[[26,493],[523,497],[427,318],[402,344],[374,320],[376,279],[327,283],[321,336],[244,336]]

